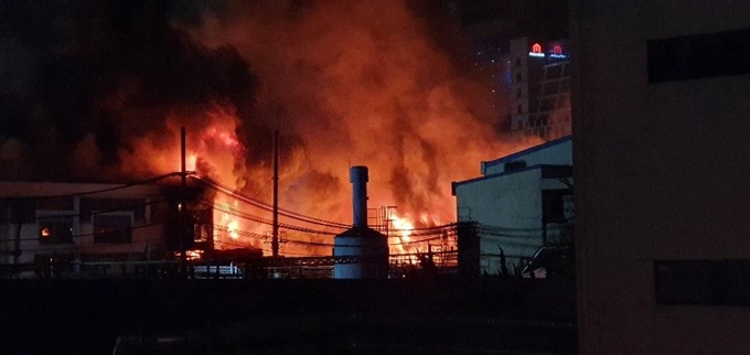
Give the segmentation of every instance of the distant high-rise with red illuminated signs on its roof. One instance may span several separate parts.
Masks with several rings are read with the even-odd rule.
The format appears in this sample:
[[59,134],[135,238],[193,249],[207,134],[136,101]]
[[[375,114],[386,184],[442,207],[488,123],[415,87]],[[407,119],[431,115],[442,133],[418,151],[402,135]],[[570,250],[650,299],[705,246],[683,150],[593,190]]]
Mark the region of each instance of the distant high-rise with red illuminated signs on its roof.
[[571,133],[567,41],[511,41],[511,131],[554,140]]

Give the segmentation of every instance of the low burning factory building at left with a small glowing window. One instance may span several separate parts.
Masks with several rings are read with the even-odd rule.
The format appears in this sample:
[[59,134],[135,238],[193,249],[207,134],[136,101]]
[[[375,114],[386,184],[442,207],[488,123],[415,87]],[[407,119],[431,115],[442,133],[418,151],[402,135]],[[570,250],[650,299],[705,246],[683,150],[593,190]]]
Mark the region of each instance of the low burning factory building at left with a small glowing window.
[[[116,276],[170,252],[205,249],[208,220],[180,234],[179,187],[156,184],[0,182],[0,272],[11,278]],[[206,214],[203,214],[206,217]],[[210,218],[210,214],[207,215]],[[183,240],[184,241],[184,240]],[[124,266],[124,265],[127,265]]]

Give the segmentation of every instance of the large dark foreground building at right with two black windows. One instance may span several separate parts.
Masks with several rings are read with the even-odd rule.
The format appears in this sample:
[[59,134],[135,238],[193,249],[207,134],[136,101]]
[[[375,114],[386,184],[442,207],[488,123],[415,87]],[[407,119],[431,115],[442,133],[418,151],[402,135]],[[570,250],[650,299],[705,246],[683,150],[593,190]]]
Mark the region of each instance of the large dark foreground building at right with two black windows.
[[571,1],[579,354],[747,354],[750,4]]

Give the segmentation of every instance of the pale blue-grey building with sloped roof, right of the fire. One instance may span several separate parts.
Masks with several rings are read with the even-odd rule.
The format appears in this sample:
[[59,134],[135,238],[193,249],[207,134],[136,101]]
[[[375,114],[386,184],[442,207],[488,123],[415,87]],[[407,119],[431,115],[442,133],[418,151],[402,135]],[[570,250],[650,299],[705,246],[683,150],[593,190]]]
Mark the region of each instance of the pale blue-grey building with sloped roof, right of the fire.
[[[481,163],[482,176],[453,182],[458,222],[478,223],[478,272],[519,266],[572,219],[571,138]],[[469,258],[472,259],[472,258]]]

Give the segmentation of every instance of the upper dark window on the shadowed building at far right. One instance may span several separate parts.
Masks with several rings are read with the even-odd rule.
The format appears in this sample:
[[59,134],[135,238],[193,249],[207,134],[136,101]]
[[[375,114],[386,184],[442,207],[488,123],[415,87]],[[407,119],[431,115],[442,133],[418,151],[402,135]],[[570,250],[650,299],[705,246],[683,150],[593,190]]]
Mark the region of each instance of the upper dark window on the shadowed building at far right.
[[647,42],[649,83],[750,73],[750,29]]

